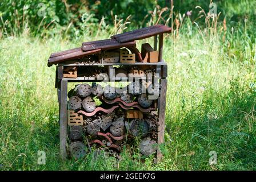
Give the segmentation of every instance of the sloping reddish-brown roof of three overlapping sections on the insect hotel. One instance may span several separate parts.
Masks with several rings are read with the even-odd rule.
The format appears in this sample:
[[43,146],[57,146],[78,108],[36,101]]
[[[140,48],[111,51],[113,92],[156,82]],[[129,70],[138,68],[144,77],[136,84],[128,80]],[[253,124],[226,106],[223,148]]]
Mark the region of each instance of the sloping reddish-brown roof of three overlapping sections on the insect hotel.
[[107,49],[135,47],[135,40],[146,39],[150,36],[164,34],[170,31],[171,28],[162,24],[157,24],[155,26],[140,28],[138,30],[125,32],[123,34],[113,35],[111,36],[111,39],[85,42],[82,43],[82,47],[52,53],[49,57],[47,65],[50,67],[53,64],[62,63],[67,60],[75,60],[82,58],[83,56],[101,53],[101,51]]

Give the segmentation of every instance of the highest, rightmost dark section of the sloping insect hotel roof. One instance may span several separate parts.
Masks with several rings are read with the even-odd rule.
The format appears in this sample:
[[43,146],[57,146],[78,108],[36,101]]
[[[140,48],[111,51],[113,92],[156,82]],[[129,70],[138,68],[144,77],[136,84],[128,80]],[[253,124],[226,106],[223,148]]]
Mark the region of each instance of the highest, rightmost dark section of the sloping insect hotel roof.
[[130,41],[139,40],[139,39],[146,39],[151,36],[155,36],[155,35],[163,34],[167,32],[171,32],[171,28],[167,26],[160,26],[160,27],[154,27],[151,29],[146,29],[143,31],[137,31],[137,32],[135,31],[132,34],[119,35],[118,37],[114,37],[114,38],[117,39],[119,43],[125,43],[125,42],[130,42]]

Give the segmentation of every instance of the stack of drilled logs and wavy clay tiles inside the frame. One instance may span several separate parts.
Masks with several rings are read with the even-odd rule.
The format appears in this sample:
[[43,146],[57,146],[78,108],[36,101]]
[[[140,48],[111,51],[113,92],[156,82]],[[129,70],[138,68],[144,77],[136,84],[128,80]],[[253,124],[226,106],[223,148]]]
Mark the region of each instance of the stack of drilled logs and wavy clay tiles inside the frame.
[[[152,155],[157,149],[156,100],[142,93],[147,84],[131,82],[125,89],[93,83],[80,84],[68,96],[69,152],[83,158],[95,146],[119,158],[123,146],[139,137],[139,151]],[[123,90],[117,92],[117,90]],[[159,93],[155,87],[154,92]],[[151,92],[152,94],[152,92]]]

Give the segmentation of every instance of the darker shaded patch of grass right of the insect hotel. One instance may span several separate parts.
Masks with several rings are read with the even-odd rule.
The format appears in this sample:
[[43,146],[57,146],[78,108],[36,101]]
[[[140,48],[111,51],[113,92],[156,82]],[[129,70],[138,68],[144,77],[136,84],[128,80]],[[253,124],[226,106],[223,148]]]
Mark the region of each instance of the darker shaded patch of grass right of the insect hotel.
[[[184,111],[166,130],[166,158],[179,169],[256,169],[256,89],[230,82],[228,90],[206,90],[202,104]],[[210,151],[217,164],[210,166]]]

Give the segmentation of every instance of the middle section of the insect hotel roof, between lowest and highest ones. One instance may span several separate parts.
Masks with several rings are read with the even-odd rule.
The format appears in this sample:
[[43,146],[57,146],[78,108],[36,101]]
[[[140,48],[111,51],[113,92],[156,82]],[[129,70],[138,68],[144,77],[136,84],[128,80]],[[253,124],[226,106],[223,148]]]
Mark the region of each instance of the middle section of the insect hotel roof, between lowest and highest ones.
[[82,46],[82,50],[91,51],[93,49],[101,49],[103,51],[107,49],[116,49],[116,48],[121,48],[126,46],[135,46],[135,45],[136,45],[135,42],[118,43],[117,40],[114,40],[114,41],[112,40],[110,42],[85,45],[85,46]]

